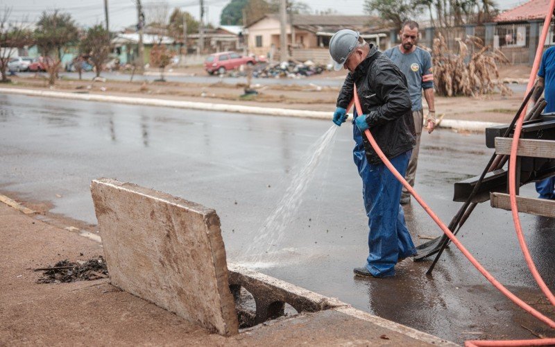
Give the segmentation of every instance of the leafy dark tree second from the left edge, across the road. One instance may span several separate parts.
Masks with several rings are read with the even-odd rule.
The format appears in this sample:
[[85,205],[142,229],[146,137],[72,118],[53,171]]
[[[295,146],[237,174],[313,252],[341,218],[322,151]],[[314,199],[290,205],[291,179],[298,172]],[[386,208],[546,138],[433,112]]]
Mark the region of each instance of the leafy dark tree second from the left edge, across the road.
[[49,57],[44,59],[46,71],[49,73],[49,85],[56,82],[67,45],[77,40],[78,29],[69,13],[60,13],[59,10],[42,12],[35,29],[35,42],[42,55]]

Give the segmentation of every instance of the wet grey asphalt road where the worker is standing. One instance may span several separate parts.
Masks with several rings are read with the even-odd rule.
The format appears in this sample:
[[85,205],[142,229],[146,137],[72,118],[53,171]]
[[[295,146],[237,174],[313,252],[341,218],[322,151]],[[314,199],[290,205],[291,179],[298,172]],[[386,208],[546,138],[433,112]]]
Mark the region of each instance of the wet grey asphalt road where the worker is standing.
[[[153,187],[215,208],[228,261],[240,262],[241,251],[280,201],[296,165],[331,125],[0,95],[0,191],[49,201],[51,212],[96,223],[92,179]],[[367,220],[350,131],[350,124],[338,129],[287,235],[275,245],[278,253],[264,260],[260,271],[457,343],[533,338],[522,326],[555,335],[498,294],[453,248],[433,277],[425,276],[430,262],[405,260],[395,278],[355,278],[352,268],[364,264],[367,255]],[[453,183],[479,174],[490,154],[484,135],[450,130],[422,135],[416,189],[447,223],[459,207],[452,202]],[[523,187],[521,194],[535,192]],[[418,235],[440,235],[419,206],[405,212],[416,244],[427,241]],[[521,221],[538,269],[555,289],[554,223],[524,214]],[[504,285],[553,317],[554,310],[538,301],[542,296],[522,260],[512,223],[510,212],[485,203],[459,235]]]

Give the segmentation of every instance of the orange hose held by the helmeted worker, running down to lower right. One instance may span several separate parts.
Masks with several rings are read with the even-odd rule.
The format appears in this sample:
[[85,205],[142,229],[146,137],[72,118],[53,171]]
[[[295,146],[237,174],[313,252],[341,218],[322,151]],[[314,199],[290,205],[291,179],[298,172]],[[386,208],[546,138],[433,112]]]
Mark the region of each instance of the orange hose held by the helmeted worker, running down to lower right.
[[[361,108],[360,101],[359,101],[359,96],[357,95],[357,86],[356,85],[355,85],[355,93],[354,94],[355,94],[355,107],[357,108],[357,114],[362,115],[363,113],[362,113],[362,108]],[[366,137],[368,138],[368,141],[372,145],[372,148],[374,149],[374,151],[376,151],[379,158],[382,160],[382,162],[384,162],[384,164],[389,169],[389,171],[391,171],[393,176],[395,176],[395,178],[397,178],[400,181],[400,183],[402,183],[402,185],[409,191],[409,193],[411,193],[411,195],[414,196],[416,201],[418,201],[418,203],[422,206],[422,208],[424,208],[424,210],[427,212],[427,214],[429,214],[429,216],[432,217],[432,219],[434,219],[434,221],[441,228],[441,230],[443,230],[443,232],[445,232],[445,235],[447,235],[447,237],[449,237],[451,239],[451,242],[453,242],[453,244],[455,244],[455,246],[457,248],[459,248],[459,250],[463,253],[463,255],[465,255],[468,258],[468,260],[470,260],[472,265],[474,265],[475,268],[482,275],[484,275],[484,277],[488,281],[490,281],[491,284],[495,288],[497,288],[499,291],[501,291],[502,294],[504,294],[507,298],[511,299],[511,301],[513,301],[513,303],[520,306],[522,308],[522,310],[524,310],[526,312],[529,312],[529,314],[535,316],[540,321],[543,321],[544,323],[549,325],[551,328],[555,328],[555,321],[552,321],[551,319],[547,318],[547,316],[544,316],[540,312],[536,311],[533,307],[531,307],[530,305],[528,305],[527,303],[522,301],[520,298],[518,298],[518,296],[515,296],[515,294],[511,293],[511,291],[509,291],[509,289],[506,289],[499,281],[497,281],[490,273],[488,273],[488,271],[486,271],[486,269],[484,269],[484,266],[481,266],[481,264],[474,257],[472,257],[472,254],[470,254],[470,252],[461,244],[461,242],[459,242],[459,240],[453,235],[451,230],[449,230],[449,228],[447,228],[447,226],[445,226],[445,223],[443,223],[443,221],[441,221],[441,219],[439,219],[436,216],[434,211],[432,211],[432,209],[429,208],[429,206],[425,203],[425,201],[422,200],[422,198],[420,198],[420,195],[418,195],[416,193],[416,191],[413,189],[413,187],[411,187],[411,185],[409,185],[409,183],[407,183],[407,180],[405,180],[404,177],[401,176],[401,174],[399,174],[399,171],[397,171],[397,169],[395,169],[395,167],[393,167],[391,162],[389,162],[389,160],[384,155],[384,152],[382,152],[382,150],[379,149],[379,146],[375,142],[375,139],[372,136],[372,134],[370,133],[370,130],[365,130],[364,135],[366,135]]]

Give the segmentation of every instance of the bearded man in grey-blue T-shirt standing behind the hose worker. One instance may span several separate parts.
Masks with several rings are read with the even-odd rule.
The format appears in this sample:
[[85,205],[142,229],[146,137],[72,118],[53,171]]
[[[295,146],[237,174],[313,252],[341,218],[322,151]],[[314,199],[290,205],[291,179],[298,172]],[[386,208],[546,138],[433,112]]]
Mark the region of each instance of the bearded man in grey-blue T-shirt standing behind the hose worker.
[[[384,51],[384,55],[393,60],[404,76],[407,77],[409,94],[411,95],[412,113],[416,128],[416,147],[412,151],[409,167],[404,178],[413,187],[416,178],[418,152],[420,151],[420,135],[422,134],[422,123],[424,120],[422,90],[424,90],[424,98],[428,104],[428,115],[426,117],[428,133],[434,131],[436,124],[434,74],[432,73],[432,56],[430,56],[428,51],[416,45],[418,44],[418,23],[411,20],[404,22],[401,27],[400,36],[401,44]],[[410,201],[411,194],[403,187],[400,203],[404,205],[410,203]]]

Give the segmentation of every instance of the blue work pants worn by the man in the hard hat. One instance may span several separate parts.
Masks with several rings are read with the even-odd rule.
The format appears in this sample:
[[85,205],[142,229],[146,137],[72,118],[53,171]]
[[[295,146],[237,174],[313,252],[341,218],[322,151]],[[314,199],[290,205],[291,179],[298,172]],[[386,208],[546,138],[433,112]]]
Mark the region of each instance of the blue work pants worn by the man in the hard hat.
[[[404,221],[400,205],[401,183],[385,164],[370,164],[359,128],[353,126],[355,164],[362,178],[362,197],[368,216],[369,255],[366,269],[376,277],[395,275],[395,264],[400,258],[416,255],[416,248]],[[391,158],[391,164],[404,176],[412,151]]]

